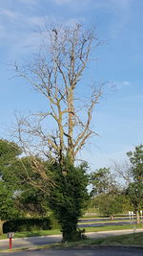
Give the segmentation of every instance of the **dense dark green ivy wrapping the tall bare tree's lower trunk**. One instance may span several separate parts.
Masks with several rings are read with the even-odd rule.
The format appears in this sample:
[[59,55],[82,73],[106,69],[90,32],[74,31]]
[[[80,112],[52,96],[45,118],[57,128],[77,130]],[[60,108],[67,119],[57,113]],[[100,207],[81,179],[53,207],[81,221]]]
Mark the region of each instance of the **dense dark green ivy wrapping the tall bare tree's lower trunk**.
[[[68,160],[64,167],[54,164],[52,175],[56,186],[51,190],[50,208],[61,225],[63,242],[83,239],[77,222],[90,198],[87,186],[87,164],[74,167]],[[64,170],[64,171],[63,171]]]

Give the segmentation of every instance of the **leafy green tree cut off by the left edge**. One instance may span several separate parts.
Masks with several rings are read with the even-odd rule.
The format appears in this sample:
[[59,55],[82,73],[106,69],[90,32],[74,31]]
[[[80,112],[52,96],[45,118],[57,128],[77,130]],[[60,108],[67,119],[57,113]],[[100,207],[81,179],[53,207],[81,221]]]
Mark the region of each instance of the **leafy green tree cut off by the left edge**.
[[[0,140],[0,234],[3,232],[3,223],[16,218],[18,209],[14,203],[15,184],[4,178],[4,174],[15,163],[20,148],[13,142]],[[10,174],[12,175],[12,173]]]

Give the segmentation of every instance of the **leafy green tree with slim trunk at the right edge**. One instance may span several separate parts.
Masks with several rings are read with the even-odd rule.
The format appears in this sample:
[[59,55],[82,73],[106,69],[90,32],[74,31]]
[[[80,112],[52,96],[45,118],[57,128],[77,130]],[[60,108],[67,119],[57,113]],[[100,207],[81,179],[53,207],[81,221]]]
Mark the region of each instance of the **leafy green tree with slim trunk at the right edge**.
[[127,188],[127,195],[136,212],[136,221],[140,222],[139,210],[143,207],[143,145],[135,147],[134,151],[127,152],[131,162],[130,172],[133,182]]

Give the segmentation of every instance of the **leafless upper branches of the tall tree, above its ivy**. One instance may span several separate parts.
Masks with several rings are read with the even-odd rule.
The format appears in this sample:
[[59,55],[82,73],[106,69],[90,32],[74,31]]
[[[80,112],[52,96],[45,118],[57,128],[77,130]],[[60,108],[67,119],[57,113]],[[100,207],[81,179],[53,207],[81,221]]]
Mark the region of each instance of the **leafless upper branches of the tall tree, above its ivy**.
[[57,26],[46,30],[33,61],[15,64],[17,76],[29,81],[48,106],[45,112],[17,119],[18,139],[29,154],[34,151],[56,158],[62,166],[65,156],[74,162],[87,140],[96,134],[91,128],[92,109],[98,104],[102,86],[93,87],[91,99],[82,105],[78,85],[91,60],[92,45],[99,44],[93,31],[81,25]]

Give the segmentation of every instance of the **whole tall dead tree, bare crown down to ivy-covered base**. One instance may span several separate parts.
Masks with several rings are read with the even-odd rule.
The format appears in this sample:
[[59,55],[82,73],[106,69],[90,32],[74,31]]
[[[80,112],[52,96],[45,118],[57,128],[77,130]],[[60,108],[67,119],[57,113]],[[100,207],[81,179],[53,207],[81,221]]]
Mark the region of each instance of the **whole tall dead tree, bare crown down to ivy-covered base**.
[[[77,221],[89,198],[86,166],[75,168],[73,164],[88,139],[96,134],[91,127],[92,110],[98,104],[102,86],[91,86],[92,94],[85,102],[90,88],[83,87],[80,81],[92,60],[93,42],[96,47],[100,44],[92,30],[80,25],[57,26],[46,30],[31,62],[15,64],[17,76],[29,81],[47,101],[46,111],[17,118],[16,135],[31,156],[32,172],[38,174],[35,180],[26,168],[28,182],[50,196],[63,241],[82,238]],[[40,160],[44,157],[49,166]]]

